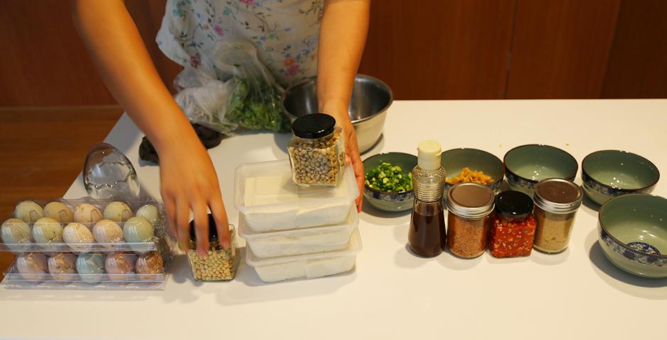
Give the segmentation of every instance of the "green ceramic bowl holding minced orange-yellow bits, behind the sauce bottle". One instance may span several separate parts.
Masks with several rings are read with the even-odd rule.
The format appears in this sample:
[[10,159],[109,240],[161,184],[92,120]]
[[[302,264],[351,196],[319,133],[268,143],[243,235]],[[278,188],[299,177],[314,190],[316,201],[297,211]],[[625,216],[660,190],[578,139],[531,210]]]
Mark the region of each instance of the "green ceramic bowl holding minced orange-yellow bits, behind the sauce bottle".
[[[491,176],[492,182],[487,184],[495,193],[500,192],[502,177],[505,176],[505,167],[502,161],[493,154],[478,149],[451,149],[443,152],[440,164],[447,171],[447,178],[452,179],[461,174],[461,169],[468,166],[471,170],[483,171],[484,174]],[[452,184],[445,183],[445,191],[451,188]]]

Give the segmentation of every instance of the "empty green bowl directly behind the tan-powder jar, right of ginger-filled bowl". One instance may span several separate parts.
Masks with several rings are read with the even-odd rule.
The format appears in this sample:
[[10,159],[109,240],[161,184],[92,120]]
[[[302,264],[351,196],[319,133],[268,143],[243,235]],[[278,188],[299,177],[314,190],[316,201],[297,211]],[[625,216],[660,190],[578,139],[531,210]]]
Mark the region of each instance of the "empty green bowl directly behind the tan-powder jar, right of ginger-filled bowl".
[[505,154],[505,176],[509,188],[533,195],[533,188],[543,179],[574,181],[579,164],[571,154],[549,145],[522,145]]

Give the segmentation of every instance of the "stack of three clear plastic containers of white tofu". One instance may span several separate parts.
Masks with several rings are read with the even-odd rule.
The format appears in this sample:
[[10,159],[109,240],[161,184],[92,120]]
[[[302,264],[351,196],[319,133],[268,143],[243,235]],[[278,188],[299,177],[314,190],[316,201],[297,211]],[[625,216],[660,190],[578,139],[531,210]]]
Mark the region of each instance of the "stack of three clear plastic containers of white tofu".
[[336,186],[297,186],[290,162],[236,169],[235,205],[246,262],[265,282],[351,271],[361,250],[351,167]]

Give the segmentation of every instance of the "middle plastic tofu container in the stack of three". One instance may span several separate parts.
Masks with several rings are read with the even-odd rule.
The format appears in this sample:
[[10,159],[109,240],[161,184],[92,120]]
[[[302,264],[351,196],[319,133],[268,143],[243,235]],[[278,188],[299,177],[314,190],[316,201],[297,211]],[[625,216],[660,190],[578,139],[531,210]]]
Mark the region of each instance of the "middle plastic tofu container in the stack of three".
[[277,257],[319,253],[345,248],[353,230],[359,225],[355,207],[340,225],[327,225],[307,229],[280,232],[253,232],[246,225],[243,215],[238,216],[238,234],[246,239],[253,254],[259,257]]

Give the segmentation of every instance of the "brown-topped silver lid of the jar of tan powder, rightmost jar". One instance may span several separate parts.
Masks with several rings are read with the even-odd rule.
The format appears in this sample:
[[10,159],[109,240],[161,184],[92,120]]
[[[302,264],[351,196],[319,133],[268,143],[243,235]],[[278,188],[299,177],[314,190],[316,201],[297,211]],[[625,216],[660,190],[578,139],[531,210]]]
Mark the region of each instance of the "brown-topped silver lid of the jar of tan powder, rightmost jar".
[[544,179],[535,186],[533,200],[535,205],[548,212],[566,214],[581,205],[581,188],[565,179]]

